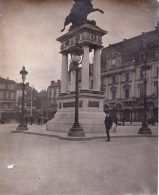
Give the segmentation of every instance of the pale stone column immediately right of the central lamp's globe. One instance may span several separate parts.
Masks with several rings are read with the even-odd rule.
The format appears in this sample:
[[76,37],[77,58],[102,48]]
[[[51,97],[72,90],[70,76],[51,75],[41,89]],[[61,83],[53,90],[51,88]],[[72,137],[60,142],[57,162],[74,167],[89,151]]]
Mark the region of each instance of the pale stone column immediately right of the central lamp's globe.
[[89,46],[83,46],[81,91],[89,91]]

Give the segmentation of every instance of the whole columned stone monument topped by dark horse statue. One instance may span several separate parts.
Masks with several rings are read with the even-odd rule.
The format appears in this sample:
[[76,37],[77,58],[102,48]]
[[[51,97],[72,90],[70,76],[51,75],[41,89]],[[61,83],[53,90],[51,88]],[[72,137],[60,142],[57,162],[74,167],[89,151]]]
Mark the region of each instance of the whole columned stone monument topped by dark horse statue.
[[[64,22],[66,25],[72,23],[67,33],[57,38],[61,43],[62,68],[61,68],[61,94],[58,97],[58,110],[55,117],[48,121],[47,130],[68,132],[74,122],[75,107],[75,74],[69,64],[69,55],[78,44],[83,50],[81,65],[81,81],[79,89],[79,122],[84,132],[105,132],[103,111],[104,96],[100,93],[100,50],[102,36],[107,31],[96,25],[94,20],[87,19],[89,13],[99,11],[93,8],[91,0],[74,0],[75,3],[70,14]],[[93,76],[90,80],[89,54],[94,52]],[[70,84],[68,82],[70,76]],[[90,89],[90,82],[92,84]]]

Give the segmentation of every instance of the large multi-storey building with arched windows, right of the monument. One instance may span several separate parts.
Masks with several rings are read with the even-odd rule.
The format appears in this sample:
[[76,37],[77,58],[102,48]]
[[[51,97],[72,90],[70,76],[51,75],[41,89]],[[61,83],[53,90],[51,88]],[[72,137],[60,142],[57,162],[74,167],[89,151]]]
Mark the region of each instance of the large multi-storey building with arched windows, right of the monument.
[[155,30],[109,45],[101,53],[104,110],[121,120],[142,121],[144,84],[141,66],[147,61],[147,114],[158,119],[159,24]]

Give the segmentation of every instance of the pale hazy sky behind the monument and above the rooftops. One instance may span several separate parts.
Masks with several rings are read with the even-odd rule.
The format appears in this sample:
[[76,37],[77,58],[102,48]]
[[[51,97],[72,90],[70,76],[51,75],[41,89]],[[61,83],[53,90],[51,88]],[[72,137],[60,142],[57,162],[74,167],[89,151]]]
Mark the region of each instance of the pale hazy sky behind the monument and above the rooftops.
[[[0,0],[0,76],[21,82],[24,65],[26,82],[38,91],[61,78],[60,43],[64,21],[73,0]],[[159,0],[93,0],[88,19],[108,31],[103,46],[154,30],[159,21]]]

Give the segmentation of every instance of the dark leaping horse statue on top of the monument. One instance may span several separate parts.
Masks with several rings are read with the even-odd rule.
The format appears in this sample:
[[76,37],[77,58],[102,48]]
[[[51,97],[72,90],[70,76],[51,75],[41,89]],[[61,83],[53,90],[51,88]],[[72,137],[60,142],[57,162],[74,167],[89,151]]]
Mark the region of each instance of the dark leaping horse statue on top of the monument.
[[65,27],[72,23],[72,27],[83,24],[83,23],[90,23],[96,25],[94,20],[90,21],[87,20],[88,14],[99,11],[100,13],[104,13],[101,9],[93,8],[92,0],[73,0],[75,1],[70,14],[66,17],[64,22],[64,28],[61,30],[63,32]]

